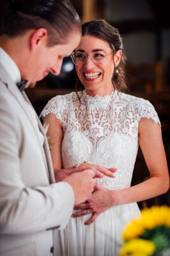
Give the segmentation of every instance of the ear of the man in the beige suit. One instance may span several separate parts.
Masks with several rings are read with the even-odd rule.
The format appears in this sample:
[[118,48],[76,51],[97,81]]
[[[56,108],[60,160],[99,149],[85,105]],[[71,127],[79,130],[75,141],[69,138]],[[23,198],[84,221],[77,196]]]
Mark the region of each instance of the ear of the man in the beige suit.
[[36,31],[31,35],[31,50],[34,51],[37,46],[46,44],[46,39],[47,30],[45,28],[36,29]]

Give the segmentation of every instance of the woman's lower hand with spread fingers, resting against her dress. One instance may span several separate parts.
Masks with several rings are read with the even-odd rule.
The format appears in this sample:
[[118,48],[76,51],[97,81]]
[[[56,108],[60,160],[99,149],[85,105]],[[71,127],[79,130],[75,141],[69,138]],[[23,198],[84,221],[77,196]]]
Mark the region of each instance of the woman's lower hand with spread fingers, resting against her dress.
[[72,217],[76,218],[92,213],[91,218],[85,222],[85,225],[90,225],[102,212],[107,211],[114,205],[112,192],[113,191],[97,184],[96,191],[92,193],[92,196],[85,203],[74,207],[74,209],[81,211],[74,212]]

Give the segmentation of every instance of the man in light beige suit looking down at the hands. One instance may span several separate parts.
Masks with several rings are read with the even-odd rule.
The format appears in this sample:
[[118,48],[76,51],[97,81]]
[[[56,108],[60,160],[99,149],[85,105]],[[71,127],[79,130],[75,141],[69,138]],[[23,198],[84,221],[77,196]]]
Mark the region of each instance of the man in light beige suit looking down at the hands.
[[87,200],[96,183],[92,170],[78,169],[59,172],[56,179],[62,182],[55,183],[45,132],[24,86],[33,87],[48,72],[60,73],[62,59],[80,42],[81,24],[67,0],[4,0],[3,4],[0,255],[50,256],[55,255],[55,230],[66,226],[74,205]]

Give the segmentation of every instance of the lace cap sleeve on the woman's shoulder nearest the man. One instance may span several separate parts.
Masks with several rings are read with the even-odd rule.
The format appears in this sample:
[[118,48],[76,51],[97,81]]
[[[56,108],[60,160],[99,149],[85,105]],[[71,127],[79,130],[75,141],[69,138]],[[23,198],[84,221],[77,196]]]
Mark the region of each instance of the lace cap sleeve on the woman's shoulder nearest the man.
[[62,95],[57,95],[56,97],[52,98],[48,101],[39,117],[44,118],[46,115],[52,113],[56,116],[56,118],[60,119],[62,122],[62,116],[65,106],[64,101],[64,96]]

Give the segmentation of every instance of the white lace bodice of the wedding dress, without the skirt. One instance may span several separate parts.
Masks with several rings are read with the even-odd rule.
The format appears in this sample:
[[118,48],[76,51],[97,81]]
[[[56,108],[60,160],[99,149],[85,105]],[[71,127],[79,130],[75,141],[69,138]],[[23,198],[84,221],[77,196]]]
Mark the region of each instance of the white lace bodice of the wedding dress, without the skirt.
[[97,182],[108,189],[131,186],[138,152],[138,124],[141,118],[159,117],[148,100],[121,92],[91,97],[83,91],[81,104],[76,93],[57,95],[41,116],[53,113],[62,122],[62,164],[69,168],[83,161],[117,168],[115,178]]

